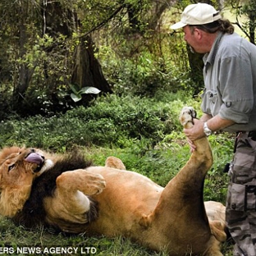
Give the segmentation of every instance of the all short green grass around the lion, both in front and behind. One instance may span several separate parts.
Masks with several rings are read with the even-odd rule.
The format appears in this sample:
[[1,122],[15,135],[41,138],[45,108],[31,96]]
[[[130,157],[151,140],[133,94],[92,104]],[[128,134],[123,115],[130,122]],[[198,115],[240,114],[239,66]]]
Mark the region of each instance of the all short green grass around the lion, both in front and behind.
[[[217,155],[218,161],[213,164],[213,167],[208,172],[205,197],[206,199],[225,200],[227,178],[222,175],[222,162],[226,162],[226,155],[229,155],[229,153],[223,154],[223,158],[220,158],[219,155],[221,153],[219,151],[222,149],[222,152],[224,152],[225,147],[228,147],[230,142],[229,139],[226,139],[226,144],[223,145],[224,138],[216,136],[212,136],[210,140],[213,140],[213,155]],[[136,147],[137,151],[133,150]],[[140,147],[141,144],[135,144],[133,149],[106,149],[95,146],[81,149],[97,165],[103,165],[109,155],[121,158],[126,164],[127,169],[149,176],[153,181],[161,185],[166,185],[190,157],[190,149],[186,145],[182,134],[176,133],[171,140],[165,139],[164,142],[159,143],[153,149],[149,149],[143,154],[141,154]],[[216,185],[218,185],[217,189]],[[54,250],[57,250],[59,247],[66,248],[69,246],[77,249],[76,252],[79,252],[80,255],[83,255],[87,249],[92,250],[89,255],[167,255],[164,252],[156,253],[149,249],[144,249],[130,240],[121,237],[109,239],[103,236],[88,237],[86,234],[64,235],[43,228],[26,230],[22,226],[14,226],[11,221],[4,217],[0,218],[0,226],[0,247],[2,249],[9,247],[15,251],[16,249],[24,249],[24,254],[18,255],[25,255],[28,248],[39,249],[45,255],[58,255]],[[75,254],[75,249],[69,255],[77,255]],[[222,251],[224,255],[231,255],[231,245],[223,244]],[[93,254],[92,252],[95,253]]]

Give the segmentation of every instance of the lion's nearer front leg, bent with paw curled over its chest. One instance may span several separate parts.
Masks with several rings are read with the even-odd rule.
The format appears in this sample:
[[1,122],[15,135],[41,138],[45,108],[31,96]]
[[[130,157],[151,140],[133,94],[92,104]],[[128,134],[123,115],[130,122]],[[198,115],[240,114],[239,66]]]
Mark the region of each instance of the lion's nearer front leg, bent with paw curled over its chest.
[[60,222],[58,226],[63,231],[71,231],[65,222],[85,224],[95,218],[92,214],[97,216],[89,196],[103,191],[103,176],[83,169],[66,171],[57,177],[56,184],[53,197],[44,201],[50,224]]

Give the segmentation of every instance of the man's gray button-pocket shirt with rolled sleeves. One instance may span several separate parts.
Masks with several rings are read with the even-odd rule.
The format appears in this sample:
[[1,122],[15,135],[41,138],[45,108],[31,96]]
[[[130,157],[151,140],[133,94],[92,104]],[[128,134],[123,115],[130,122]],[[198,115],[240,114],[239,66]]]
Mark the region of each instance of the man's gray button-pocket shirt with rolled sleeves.
[[203,112],[235,121],[227,131],[256,130],[256,46],[220,32],[203,62]]

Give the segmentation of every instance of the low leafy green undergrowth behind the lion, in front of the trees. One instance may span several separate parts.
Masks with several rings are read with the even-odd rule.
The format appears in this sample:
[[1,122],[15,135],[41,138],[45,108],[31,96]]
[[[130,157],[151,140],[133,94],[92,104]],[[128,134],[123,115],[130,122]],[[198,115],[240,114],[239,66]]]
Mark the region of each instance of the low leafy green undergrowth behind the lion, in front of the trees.
[[98,98],[90,107],[77,107],[55,117],[35,116],[1,123],[0,144],[66,150],[74,144],[126,147],[133,139],[157,144],[180,129],[181,101],[160,103],[150,98]]

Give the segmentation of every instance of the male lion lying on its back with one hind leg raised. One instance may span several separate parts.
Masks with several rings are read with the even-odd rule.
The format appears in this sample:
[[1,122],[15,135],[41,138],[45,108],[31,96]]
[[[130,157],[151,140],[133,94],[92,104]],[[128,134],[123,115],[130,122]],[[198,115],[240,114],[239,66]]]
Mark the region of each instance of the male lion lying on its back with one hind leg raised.
[[[181,124],[193,126],[184,107]],[[225,207],[203,203],[203,180],[213,164],[208,139],[165,188],[127,171],[119,158],[95,167],[79,152],[48,154],[10,147],[0,152],[0,214],[17,225],[58,231],[124,236],[170,255],[222,255]]]

